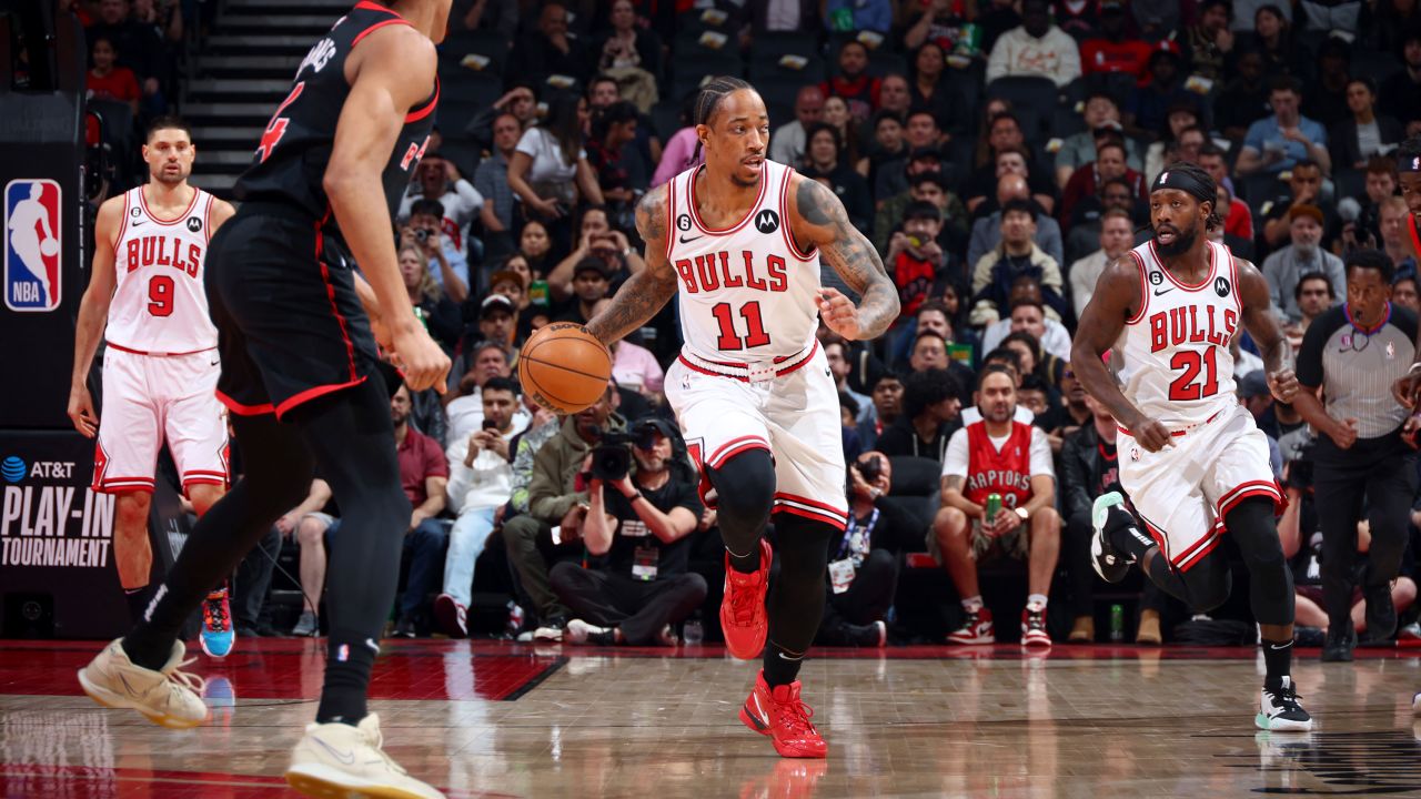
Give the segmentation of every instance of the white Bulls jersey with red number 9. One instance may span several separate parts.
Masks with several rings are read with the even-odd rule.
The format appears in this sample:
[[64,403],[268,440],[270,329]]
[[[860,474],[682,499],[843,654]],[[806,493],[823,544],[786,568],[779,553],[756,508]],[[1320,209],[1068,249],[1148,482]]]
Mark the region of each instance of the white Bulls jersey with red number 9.
[[104,337],[138,353],[196,353],[217,345],[207,316],[203,260],[213,198],[193,189],[188,210],[159,219],[144,186],[124,195],[124,223],[114,240],[118,287]]

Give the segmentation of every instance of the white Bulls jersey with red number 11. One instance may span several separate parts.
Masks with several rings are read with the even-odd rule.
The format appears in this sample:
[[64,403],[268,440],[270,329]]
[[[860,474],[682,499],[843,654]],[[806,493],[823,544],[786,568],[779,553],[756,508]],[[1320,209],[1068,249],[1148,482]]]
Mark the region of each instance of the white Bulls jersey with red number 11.
[[801,253],[786,212],[793,169],[764,161],[760,195],[736,225],[710,230],[696,212],[695,178],[671,181],[666,260],[679,274],[681,331],[705,360],[789,358],[814,341],[818,253]]

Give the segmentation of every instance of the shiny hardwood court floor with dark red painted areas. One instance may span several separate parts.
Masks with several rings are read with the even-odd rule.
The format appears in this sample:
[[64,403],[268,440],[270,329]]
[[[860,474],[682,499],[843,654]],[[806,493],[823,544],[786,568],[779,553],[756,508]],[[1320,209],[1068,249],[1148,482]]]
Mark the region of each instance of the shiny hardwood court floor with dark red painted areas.
[[[152,726],[80,695],[97,644],[0,641],[0,796],[288,796],[315,711],[313,640],[200,657],[213,719]],[[196,651],[196,647],[192,647]],[[450,798],[1421,796],[1421,651],[1300,653],[1317,729],[1253,729],[1249,650],[1016,645],[820,653],[803,681],[827,761],[786,761],[736,711],[755,667],[666,650],[387,641],[372,682],[387,749]],[[230,697],[234,694],[234,699]]]

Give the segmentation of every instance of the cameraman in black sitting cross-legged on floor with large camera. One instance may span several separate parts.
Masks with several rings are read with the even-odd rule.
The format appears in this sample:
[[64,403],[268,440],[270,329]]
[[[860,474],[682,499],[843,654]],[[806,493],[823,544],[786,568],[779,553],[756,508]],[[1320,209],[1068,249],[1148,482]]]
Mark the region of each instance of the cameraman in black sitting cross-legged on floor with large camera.
[[553,590],[576,614],[567,641],[674,647],[671,626],[705,601],[705,579],[686,573],[703,508],[691,463],[675,456],[676,439],[671,424],[647,417],[593,451],[583,540],[605,562],[553,567]]

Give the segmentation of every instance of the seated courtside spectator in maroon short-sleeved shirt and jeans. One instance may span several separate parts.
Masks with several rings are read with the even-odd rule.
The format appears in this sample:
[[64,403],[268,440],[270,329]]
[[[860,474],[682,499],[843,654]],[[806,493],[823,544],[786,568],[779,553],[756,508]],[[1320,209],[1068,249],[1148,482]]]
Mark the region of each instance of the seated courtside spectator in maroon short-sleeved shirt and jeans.
[[443,552],[449,540],[449,527],[439,520],[445,509],[449,461],[439,442],[409,427],[409,390],[401,385],[389,398],[389,417],[395,424],[399,483],[414,505],[414,512],[409,515],[409,527],[404,532],[409,579],[399,597],[396,638],[415,637],[415,618],[423,610],[425,597],[442,584]]

